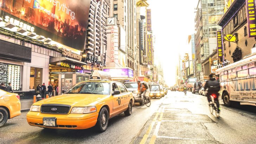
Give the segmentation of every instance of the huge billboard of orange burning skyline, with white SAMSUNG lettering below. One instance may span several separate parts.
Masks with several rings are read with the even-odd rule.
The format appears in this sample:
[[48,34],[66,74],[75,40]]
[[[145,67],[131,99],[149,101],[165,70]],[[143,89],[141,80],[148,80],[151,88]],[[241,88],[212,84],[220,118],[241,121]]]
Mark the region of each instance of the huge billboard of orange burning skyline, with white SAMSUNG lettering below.
[[0,19],[83,51],[90,0],[1,0]]

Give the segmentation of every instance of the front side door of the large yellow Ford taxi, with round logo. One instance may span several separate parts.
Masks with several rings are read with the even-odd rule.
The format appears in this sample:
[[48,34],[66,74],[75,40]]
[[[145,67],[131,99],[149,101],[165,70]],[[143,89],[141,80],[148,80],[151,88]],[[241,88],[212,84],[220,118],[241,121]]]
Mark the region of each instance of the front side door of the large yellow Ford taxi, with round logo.
[[[119,87],[116,85],[116,83],[112,84],[112,93],[114,93],[115,90],[119,90]],[[123,97],[122,93],[112,96],[113,101],[113,116],[116,116],[117,114],[120,114],[123,110]]]

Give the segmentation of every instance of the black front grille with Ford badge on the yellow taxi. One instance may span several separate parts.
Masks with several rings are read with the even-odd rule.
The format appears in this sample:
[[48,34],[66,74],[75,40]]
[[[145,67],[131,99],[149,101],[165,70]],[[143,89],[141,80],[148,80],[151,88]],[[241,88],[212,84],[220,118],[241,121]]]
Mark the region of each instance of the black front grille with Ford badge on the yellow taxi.
[[63,104],[43,104],[40,111],[41,113],[67,114],[70,107],[70,105]]

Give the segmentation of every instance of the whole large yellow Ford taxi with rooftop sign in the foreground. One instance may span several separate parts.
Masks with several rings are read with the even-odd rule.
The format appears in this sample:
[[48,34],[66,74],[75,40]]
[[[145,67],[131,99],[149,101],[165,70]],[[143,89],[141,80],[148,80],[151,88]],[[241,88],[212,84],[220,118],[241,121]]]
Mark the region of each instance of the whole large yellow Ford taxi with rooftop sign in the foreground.
[[51,129],[88,129],[104,132],[109,118],[132,114],[133,95],[108,73],[94,71],[89,81],[73,85],[60,96],[40,100],[31,106],[27,122]]

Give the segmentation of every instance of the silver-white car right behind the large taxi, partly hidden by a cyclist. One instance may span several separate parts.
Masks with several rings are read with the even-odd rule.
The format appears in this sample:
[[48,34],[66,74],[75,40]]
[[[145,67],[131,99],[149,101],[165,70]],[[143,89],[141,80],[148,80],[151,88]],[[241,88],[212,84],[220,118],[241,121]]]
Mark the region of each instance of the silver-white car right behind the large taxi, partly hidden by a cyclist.
[[[140,83],[144,83],[148,86],[147,82],[145,82],[145,81],[141,81]],[[126,83],[124,83],[124,86],[126,86],[128,91],[133,93],[134,102],[142,104],[141,96],[137,95],[138,94],[138,83],[137,82],[126,82]],[[149,90],[149,86],[148,86],[148,89],[146,90],[146,97],[149,97],[149,93],[150,93],[150,90]]]

